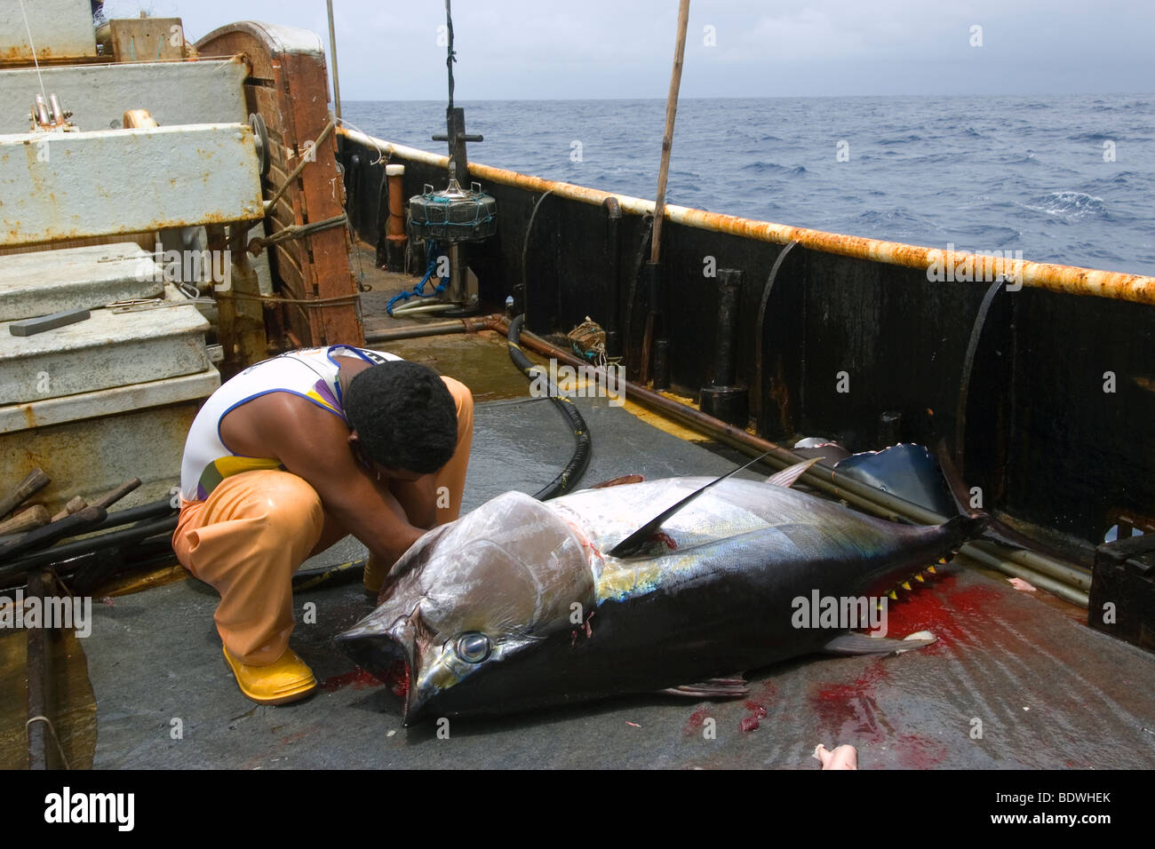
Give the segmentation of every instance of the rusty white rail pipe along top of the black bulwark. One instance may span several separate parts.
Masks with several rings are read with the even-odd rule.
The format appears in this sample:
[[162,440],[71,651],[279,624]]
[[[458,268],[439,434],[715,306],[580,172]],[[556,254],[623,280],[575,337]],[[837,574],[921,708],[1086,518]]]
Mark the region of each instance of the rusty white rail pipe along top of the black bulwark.
[[[430,154],[404,144],[394,144],[393,142],[374,139],[353,129],[342,127],[338,132],[352,141],[380,149],[382,155],[387,157],[403,158],[439,167],[446,167],[449,162],[448,157]],[[502,186],[522,188],[535,193],[553,192],[559,198],[595,206],[601,204],[606,198],[616,198],[623,211],[631,215],[654,213],[654,202],[642,200],[641,198],[611,194],[596,188],[575,186],[571,183],[546,180],[541,177],[517,173],[516,171],[482,165],[480,163],[470,163],[469,170],[475,179],[489,180]],[[952,261],[955,267],[968,261],[975,263],[974,270],[976,274],[974,276],[976,277],[981,277],[986,273],[992,273],[993,275],[994,271],[994,260],[992,258],[975,256],[962,251],[948,253],[936,247],[830,233],[822,230],[775,224],[768,221],[742,218],[735,215],[707,213],[701,209],[691,209],[675,204],[666,204],[663,210],[663,218],[696,230],[729,233],[731,236],[754,239],[755,241],[770,241],[778,245],[797,241],[803,247],[812,251],[859,260],[871,260],[903,268],[914,268],[922,271],[934,267],[944,268]],[[1008,276],[1013,274],[1023,286],[1031,289],[1046,289],[1067,295],[1095,296],[1155,305],[1155,277],[1145,275],[1060,266],[1052,262],[1030,262],[1028,260],[1006,260],[1003,263],[1003,271]],[[988,283],[989,280],[978,282]]]

